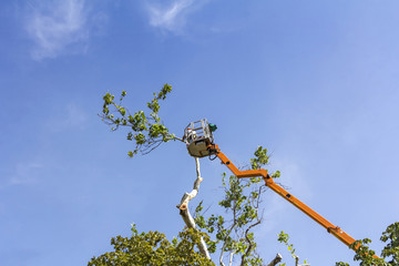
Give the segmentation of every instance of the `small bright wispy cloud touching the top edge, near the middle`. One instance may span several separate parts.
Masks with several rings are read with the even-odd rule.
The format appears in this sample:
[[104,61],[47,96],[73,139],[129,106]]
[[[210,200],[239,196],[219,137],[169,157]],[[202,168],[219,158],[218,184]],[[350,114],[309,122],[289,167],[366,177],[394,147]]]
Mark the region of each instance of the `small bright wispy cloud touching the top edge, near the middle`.
[[181,33],[186,23],[187,16],[198,9],[205,1],[173,0],[167,7],[158,2],[147,1],[150,24],[174,33]]

